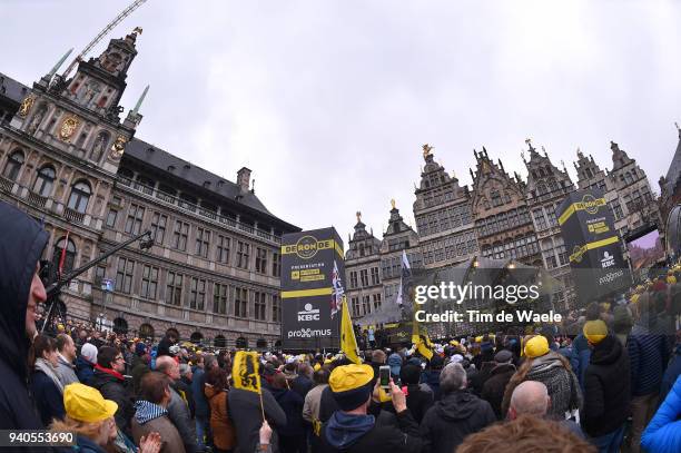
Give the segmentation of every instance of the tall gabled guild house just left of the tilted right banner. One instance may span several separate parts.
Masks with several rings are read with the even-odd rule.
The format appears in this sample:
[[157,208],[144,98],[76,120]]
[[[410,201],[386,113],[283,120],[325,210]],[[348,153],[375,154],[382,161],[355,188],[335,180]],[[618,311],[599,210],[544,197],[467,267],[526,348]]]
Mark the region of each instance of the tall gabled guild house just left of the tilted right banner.
[[569,193],[574,190],[574,185],[563,166],[557,169],[543,149],[542,156],[536,151],[530,140],[526,140],[530,160],[523,161],[527,169],[527,184],[525,186],[525,200],[532,215],[534,230],[542,252],[542,266],[551,273],[562,288],[555,293],[553,302],[556,306],[565,306],[572,294],[566,294],[565,288],[572,293],[570,260],[557,224],[557,208]]

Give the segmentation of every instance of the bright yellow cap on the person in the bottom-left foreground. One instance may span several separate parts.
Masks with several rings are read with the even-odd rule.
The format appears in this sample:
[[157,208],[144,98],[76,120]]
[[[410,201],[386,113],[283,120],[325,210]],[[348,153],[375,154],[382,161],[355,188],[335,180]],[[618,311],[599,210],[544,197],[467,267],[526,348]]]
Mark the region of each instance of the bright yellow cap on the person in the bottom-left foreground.
[[105,400],[97,388],[80,383],[65,387],[63,407],[71,418],[87,423],[110,418],[118,411],[115,401]]

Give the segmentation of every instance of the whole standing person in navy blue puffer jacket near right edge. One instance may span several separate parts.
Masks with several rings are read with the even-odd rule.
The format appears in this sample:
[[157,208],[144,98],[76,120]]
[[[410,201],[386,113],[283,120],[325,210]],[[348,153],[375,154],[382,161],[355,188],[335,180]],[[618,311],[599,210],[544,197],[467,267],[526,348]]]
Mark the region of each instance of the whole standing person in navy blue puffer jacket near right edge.
[[658,332],[657,314],[650,297],[639,298],[636,319],[626,349],[631,361],[631,451],[641,451],[641,434],[658,407],[662,375],[670,356],[665,336]]

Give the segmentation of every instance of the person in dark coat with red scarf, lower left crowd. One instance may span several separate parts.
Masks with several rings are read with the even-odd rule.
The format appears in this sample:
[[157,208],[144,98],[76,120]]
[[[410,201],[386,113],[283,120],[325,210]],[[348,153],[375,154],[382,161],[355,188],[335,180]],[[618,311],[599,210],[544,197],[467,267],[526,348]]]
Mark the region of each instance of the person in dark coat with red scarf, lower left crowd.
[[[85,348],[85,346],[83,346]],[[122,354],[111,346],[102,346],[97,353],[95,375],[89,385],[97,388],[101,395],[118,404],[116,425],[128,437],[131,437],[130,418],[135,413],[130,392],[121,374],[126,368]]]

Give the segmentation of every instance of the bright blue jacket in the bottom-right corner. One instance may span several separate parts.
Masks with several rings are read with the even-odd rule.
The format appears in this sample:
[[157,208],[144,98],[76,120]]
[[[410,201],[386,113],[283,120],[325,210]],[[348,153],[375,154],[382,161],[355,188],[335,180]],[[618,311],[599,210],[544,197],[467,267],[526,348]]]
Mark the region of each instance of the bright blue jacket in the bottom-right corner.
[[641,437],[648,452],[681,452],[681,376],[650,421]]

